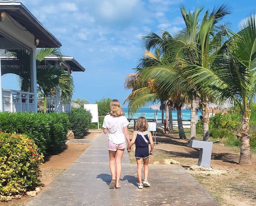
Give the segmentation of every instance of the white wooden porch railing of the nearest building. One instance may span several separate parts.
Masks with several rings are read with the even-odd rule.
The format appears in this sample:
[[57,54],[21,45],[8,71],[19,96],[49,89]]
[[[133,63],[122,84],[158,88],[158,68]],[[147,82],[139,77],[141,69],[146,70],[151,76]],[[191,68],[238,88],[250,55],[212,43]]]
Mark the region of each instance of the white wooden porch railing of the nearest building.
[[35,94],[2,88],[3,111],[31,112],[35,111]]

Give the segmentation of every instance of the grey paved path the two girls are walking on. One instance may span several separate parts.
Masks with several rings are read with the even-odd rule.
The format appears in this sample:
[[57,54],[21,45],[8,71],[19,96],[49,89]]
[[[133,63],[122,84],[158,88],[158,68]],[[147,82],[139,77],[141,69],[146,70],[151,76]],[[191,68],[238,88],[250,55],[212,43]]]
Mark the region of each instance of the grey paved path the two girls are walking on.
[[27,205],[218,205],[180,165],[150,165],[151,187],[138,189],[136,164],[129,163],[127,152],[123,157],[121,189],[109,189],[107,141],[107,135],[100,134],[67,170]]

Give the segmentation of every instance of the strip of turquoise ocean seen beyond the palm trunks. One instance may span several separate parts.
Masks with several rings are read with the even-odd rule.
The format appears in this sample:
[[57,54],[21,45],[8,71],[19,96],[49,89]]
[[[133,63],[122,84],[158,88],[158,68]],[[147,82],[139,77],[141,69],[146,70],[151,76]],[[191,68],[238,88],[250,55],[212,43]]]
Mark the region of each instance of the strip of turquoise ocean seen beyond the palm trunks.
[[[125,117],[127,117],[127,118],[138,118],[138,117],[144,116],[147,119],[154,119],[155,113],[156,113],[155,110],[152,110],[147,107],[142,107],[135,114],[133,114],[132,117],[128,117],[128,108],[123,107],[123,111],[125,112]],[[183,120],[190,119],[190,112],[191,112],[190,110],[182,110],[182,119]],[[202,115],[202,114],[201,114],[201,111],[199,110],[198,117],[197,117],[198,119],[199,119],[200,115]],[[172,116],[173,116],[173,119],[177,119],[177,111],[176,110],[172,111]],[[161,122],[162,111],[157,111],[157,119],[158,119],[158,122]],[[164,119],[165,119],[165,112],[164,112]]]

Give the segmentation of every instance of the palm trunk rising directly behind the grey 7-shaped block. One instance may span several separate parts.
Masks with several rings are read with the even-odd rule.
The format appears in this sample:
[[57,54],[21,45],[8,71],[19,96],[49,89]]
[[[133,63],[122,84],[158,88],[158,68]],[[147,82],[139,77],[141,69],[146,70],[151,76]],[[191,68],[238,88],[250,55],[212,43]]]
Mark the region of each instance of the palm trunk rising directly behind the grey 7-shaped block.
[[202,116],[203,116],[203,140],[210,141],[209,134],[209,101],[207,98],[203,99],[202,104]]

